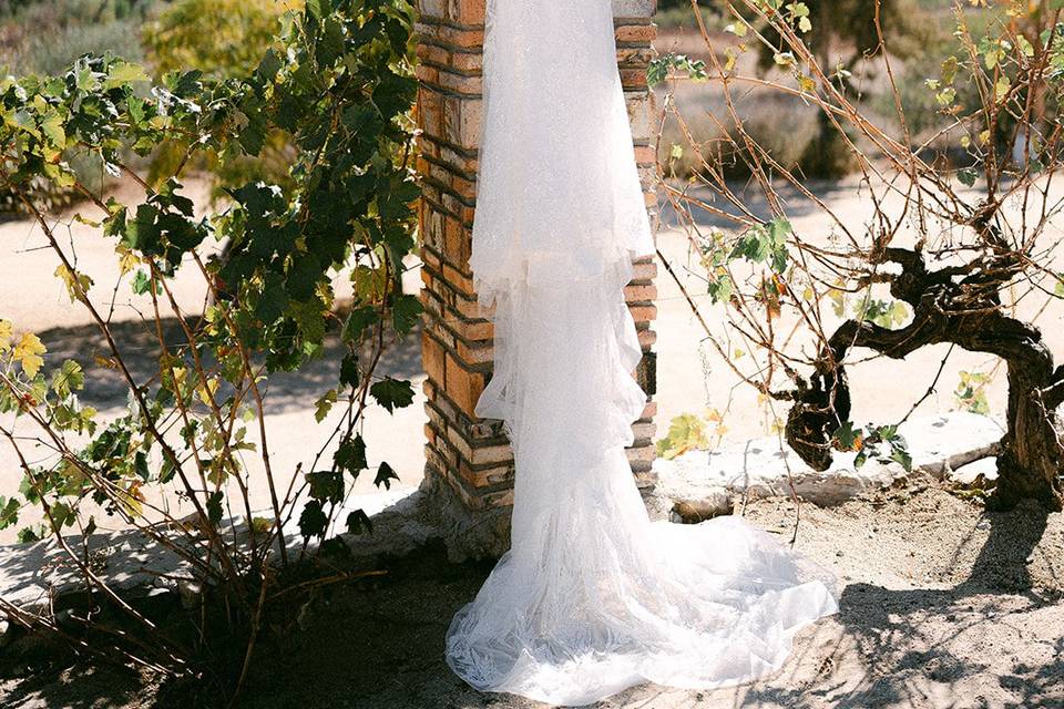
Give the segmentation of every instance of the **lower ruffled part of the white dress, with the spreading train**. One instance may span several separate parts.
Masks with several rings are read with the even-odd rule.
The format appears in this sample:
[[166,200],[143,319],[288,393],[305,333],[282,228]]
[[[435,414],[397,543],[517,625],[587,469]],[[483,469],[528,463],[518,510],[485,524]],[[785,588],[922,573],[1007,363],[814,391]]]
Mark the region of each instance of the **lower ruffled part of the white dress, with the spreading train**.
[[740,518],[649,521],[624,452],[646,404],[627,263],[497,295],[478,414],[513,441],[512,545],[447,640],[479,689],[582,705],[644,681],[748,681],[836,610],[829,582]]

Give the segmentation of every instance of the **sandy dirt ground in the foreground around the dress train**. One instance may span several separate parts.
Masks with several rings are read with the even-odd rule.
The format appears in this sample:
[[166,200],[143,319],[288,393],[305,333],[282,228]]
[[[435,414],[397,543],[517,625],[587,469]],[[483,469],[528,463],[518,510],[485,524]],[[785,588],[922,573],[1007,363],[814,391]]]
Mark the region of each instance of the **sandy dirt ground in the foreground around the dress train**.
[[[786,538],[795,510],[758,502],[747,517]],[[902,490],[833,508],[804,505],[797,548],[837,574],[841,609],[798,636],[779,672],[709,692],[642,686],[596,709],[1064,707],[1064,515],[985,514],[940,487]],[[297,629],[260,646],[235,706],[542,707],[475,692],[443,661],[448,623],[489,568],[450,565],[441,549],[427,549],[370,586],[318,597]],[[115,669],[22,661],[0,669],[0,706],[209,701]]]

